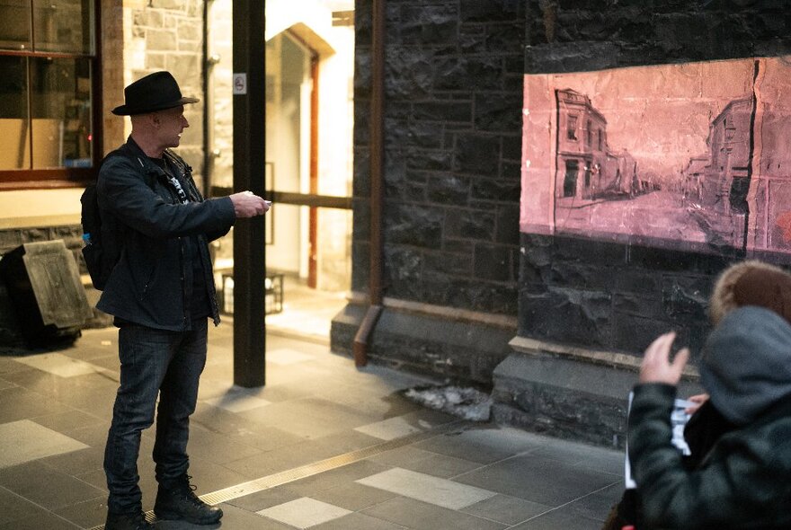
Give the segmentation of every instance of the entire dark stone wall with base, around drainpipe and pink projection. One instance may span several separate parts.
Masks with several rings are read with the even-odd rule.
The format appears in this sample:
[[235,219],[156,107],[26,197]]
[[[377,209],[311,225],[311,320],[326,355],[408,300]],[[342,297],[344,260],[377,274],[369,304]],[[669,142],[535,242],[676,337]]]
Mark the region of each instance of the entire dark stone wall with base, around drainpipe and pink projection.
[[[751,0],[386,6],[385,309],[369,357],[492,384],[503,423],[622,445],[642,350],[669,328],[698,349],[713,281],[743,256],[520,234],[523,74],[785,54],[785,11]],[[367,292],[369,0],[356,4],[356,32],[352,286]],[[350,304],[336,317],[333,349],[351,349],[364,313]],[[508,326],[484,314],[516,316],[509,344]],[[692,367],[685,389],[696,379]]]

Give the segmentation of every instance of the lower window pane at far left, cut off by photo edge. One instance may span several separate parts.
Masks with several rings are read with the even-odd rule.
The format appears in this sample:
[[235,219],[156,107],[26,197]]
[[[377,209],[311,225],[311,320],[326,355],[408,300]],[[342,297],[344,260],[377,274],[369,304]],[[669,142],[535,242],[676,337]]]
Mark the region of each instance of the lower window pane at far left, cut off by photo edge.
[[24,57],[0,56],[0,170],[30,167],[26,64]]

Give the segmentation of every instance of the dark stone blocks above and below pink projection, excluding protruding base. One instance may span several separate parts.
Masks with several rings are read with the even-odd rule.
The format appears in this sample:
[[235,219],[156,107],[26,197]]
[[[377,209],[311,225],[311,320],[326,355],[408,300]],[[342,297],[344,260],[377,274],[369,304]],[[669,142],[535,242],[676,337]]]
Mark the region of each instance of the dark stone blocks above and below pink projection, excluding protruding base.
[[[788,53],[779,4],[530,2],[525,72],[568,73]],[[520,336],[641,354],[669,329],[693,350],[730,255],[521,235]]]

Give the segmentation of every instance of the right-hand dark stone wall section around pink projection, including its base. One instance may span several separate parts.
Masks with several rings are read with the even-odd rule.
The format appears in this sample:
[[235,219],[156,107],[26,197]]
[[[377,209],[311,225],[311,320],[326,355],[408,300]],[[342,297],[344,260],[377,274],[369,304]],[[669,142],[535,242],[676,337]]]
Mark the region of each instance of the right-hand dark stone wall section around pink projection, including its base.
[[[780,4],[751,0],[531,1],[525,72],[787,54],[786,19]],[[698,352],[715,278],[745,257],[537,234],[520,234],[520,251],[519,333],[495,369],[494,419],[606,446],[626,439],[644,348],[674,329]],[[700,392],[697,380],[693,362],[680,393]]]

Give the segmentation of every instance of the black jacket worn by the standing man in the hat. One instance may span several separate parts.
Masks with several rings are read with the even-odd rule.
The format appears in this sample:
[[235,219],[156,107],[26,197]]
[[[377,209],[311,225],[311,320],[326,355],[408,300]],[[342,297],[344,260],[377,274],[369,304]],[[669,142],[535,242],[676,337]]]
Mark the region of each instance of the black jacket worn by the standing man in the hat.
[[[164,170],[151,162],[129,137],[105,157],[97,191],[102,229],[113,230],[122,244],[96,307],[124,321],[184,331],[191,327],[189,305],[192,269],[185,260],[185,238],[196,236],[215,324],[219,322],[209,241],[228,233],[236,221],[229,198],[204,200],[191,168],[167,152],[183,172],[191,202],[182,204]],[[103,234],[103,230],[102,230]]]

